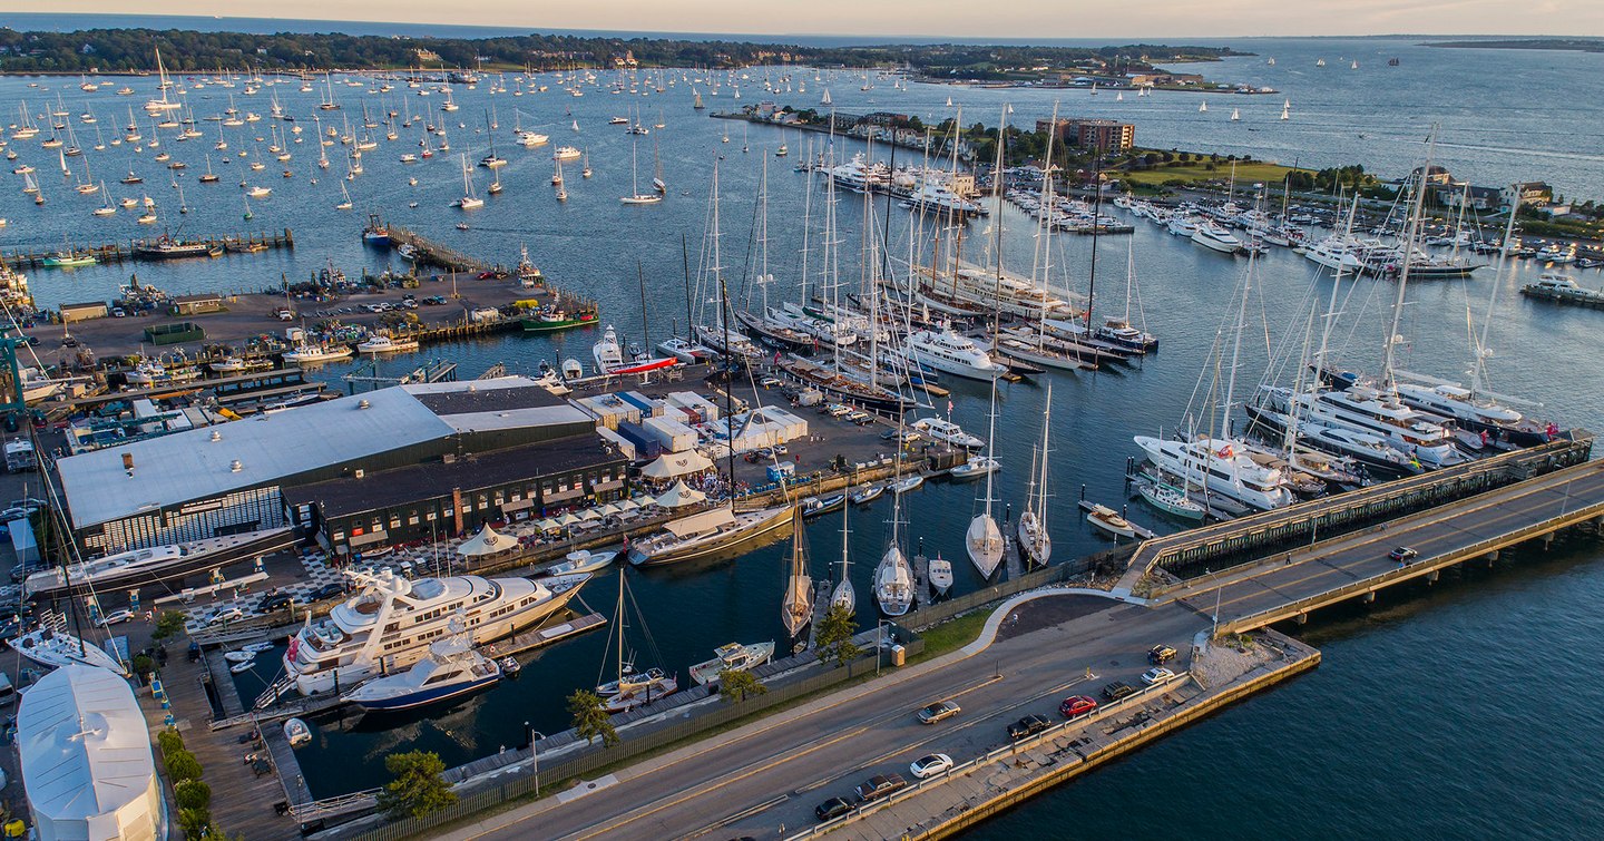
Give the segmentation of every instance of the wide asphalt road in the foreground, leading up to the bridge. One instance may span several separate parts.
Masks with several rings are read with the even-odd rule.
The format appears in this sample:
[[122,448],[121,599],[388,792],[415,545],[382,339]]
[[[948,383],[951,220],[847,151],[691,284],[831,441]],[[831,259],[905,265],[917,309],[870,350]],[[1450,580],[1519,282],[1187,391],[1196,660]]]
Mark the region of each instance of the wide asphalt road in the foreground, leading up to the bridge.
[[[1006,725],[1025,713],[1055,717],[1065,695],[1097,695],[1115,679],[1134,684],[1147,668],[1147,648],[1166,642],[1189,652],[1208,626],[1181,605],[1148,610],[1091,595],[1049,599],[1059,600],[1051,610],[1067,621],[626,769],[606,788],[560,804],[541,801],[550,806],[478,838],[775,838],[781,827],[810,825],[820,801],[850,794],[873,774],[911,777],[908,764],[932,751],[956,761],[978,756],[1006,743]],[[1046,602],[1015,608],[1027,620],[1020,631],[1035,624],[1028,611],[1038,605],[1046,608]],[[1091,681],[1088,668],[1096,672]],[[956,700],[962,714],[929,727],[913,717],[917,706],[942,698]]]

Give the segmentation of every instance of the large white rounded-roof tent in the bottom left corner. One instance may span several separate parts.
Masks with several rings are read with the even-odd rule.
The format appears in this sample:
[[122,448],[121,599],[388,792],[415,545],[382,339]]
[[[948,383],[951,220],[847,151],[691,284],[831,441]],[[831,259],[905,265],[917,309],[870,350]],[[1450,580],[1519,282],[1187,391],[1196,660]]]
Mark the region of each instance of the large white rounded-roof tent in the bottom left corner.
[[18,746],[43,841],[165,838],[151,735],[128,682],[63,666],[22,693]]

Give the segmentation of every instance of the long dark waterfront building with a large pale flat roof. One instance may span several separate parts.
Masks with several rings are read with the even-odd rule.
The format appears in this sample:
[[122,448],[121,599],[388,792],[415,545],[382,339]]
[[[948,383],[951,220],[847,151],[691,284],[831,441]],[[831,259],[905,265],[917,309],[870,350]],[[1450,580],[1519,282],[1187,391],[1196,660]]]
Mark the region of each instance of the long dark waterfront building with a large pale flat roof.
[[618,494],[624,464],[592,416],[528,377],[496,377],[380,388],[56,469],[91,554],[284,525],[343,554]]

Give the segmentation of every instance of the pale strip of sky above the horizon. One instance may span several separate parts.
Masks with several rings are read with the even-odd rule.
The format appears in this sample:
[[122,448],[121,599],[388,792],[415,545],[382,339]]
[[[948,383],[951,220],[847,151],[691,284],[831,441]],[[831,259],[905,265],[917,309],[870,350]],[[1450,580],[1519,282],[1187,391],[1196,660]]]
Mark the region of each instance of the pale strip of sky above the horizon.
[[[808,0],[776,6],[751,0],[643,3],[531,3],[475,0],[10,0],[18,13],[199,14],[310,21],[507,26],[531,32],[598,29],[618,32],[717,32],[762,35],[921,35],[962,39],[1184,39],[1251,35],[1498,34],[1567,37],[1604,34],[1598,0],[1179,0],[1089,3],[1012,0],[1006,11],[974,0]],[[788,11],[789,10],[789,11]],[[805,11],[805,14],[804,14]],[[0,14],[0,24],[5,16]]]

